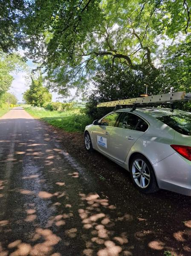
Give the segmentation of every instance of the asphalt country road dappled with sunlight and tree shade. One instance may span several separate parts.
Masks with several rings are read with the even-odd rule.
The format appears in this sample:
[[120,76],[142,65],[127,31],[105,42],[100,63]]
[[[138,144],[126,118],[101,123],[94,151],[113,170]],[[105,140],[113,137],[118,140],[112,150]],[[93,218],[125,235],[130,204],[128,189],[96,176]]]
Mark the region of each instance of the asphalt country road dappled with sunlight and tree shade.
[[122,187],[22,108],[0,118],[0,256],[191,255],[189,197]]

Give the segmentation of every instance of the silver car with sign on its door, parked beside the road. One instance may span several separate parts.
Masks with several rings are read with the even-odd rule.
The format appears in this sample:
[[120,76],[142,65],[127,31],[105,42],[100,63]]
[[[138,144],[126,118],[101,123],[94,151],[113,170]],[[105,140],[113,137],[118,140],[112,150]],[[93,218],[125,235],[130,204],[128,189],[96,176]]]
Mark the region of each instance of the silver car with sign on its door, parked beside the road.
[[88,125],[88,151],[96,149],[130,171],[137,189],[191,195],[191,113],[168,108],[125,108]]

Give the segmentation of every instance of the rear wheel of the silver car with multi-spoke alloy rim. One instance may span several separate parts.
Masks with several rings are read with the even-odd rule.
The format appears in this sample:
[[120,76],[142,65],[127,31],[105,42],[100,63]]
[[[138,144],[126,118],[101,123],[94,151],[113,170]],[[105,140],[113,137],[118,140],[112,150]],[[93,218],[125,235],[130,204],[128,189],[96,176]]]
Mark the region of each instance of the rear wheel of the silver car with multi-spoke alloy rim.
[[130,175],[139,191],[149,194],[159,190],[153,167],[142,154],[137,154],[131,160]]

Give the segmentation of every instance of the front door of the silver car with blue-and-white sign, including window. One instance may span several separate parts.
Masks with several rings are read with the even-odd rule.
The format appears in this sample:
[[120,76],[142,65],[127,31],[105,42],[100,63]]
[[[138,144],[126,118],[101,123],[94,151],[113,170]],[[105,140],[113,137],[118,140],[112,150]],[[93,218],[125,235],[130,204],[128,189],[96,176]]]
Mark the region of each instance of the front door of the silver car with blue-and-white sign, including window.
[[119,118],[119,112],[113,112],[104,116],[100,125],[95,125],[93,129],[93,145],[96,145],[96,149],[107,156],[110,155],[110,133],[115,127]]

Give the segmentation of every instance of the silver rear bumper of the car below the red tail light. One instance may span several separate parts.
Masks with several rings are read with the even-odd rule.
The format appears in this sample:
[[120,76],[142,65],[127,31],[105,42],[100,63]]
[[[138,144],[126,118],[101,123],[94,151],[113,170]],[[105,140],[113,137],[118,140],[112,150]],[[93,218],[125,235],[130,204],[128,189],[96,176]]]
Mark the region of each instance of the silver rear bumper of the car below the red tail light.
[[174,153],[153,165],[160,189],[191,196],[191,161]]

